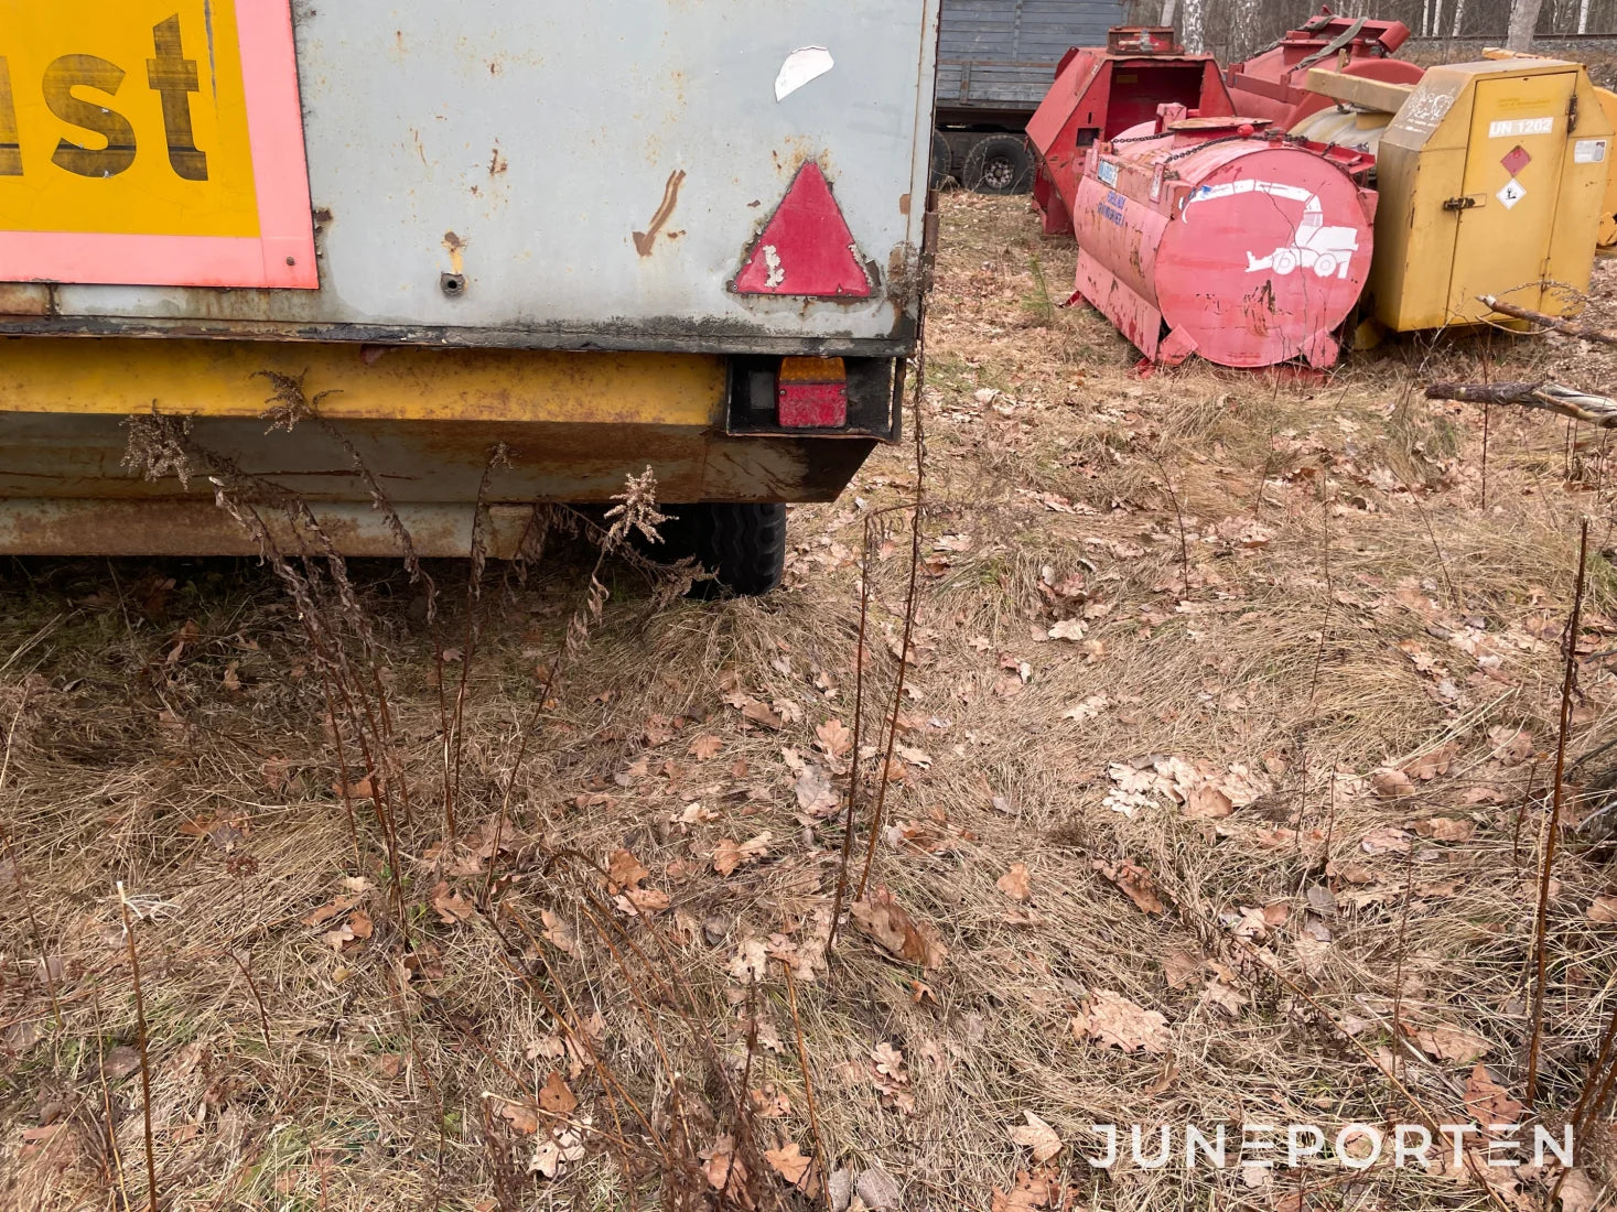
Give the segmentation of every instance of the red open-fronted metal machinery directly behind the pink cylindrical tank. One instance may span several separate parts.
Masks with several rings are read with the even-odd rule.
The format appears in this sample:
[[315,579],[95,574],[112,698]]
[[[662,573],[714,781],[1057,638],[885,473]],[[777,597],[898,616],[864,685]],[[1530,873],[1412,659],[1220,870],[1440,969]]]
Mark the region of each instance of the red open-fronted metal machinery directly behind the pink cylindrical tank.
[[1074,47],[1062,57],[1056,82],[1027,124],[1038,154],[1033,204],[1045,217],[1045,234],[1072,234],[1085,152],[1153,121],[1164,103],[1200,115],[1235,113],[1213,57],[1187,55],[1166,26],[1116,26],[1104,47]]

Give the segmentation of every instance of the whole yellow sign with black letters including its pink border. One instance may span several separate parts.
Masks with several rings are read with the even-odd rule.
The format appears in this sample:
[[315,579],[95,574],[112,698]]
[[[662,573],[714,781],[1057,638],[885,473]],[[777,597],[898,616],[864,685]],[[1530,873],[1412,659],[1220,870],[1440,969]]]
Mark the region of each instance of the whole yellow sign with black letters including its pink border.
[[0,0],[0,281],[317,286],[289,0]]

